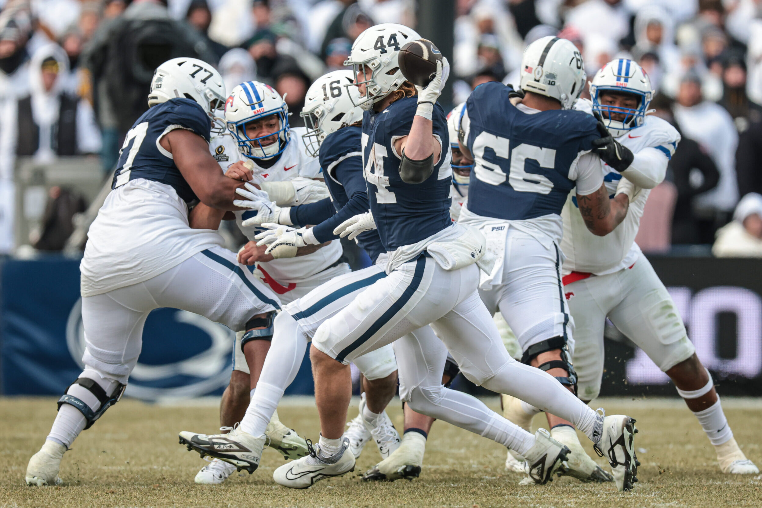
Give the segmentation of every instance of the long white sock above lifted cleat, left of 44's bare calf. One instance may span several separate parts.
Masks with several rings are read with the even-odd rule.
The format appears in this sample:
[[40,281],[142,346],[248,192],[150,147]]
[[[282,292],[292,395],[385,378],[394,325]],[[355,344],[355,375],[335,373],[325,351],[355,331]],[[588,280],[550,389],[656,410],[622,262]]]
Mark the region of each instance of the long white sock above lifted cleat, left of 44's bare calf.
[[241,430],[252,436],[261,436],[273,417],[283,392],[293,382],[307,350],[307,337],[291,315],[281,312],[275,318],[275,333],[264,359]]

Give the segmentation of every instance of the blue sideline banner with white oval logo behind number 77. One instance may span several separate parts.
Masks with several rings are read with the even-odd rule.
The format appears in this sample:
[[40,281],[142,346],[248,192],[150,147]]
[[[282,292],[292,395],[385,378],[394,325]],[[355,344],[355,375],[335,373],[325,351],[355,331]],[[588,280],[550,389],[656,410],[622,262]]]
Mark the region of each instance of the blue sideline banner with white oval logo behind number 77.
[[[82,372],[81,310],[78,260],[52,256],[0,265],[0,394],[64,393]],[[126,395],[146,401],[221,395],[234,340],[229,328],[200,315],[156,309],[146,319]],[[313,391],[306,358],[287,393]]]

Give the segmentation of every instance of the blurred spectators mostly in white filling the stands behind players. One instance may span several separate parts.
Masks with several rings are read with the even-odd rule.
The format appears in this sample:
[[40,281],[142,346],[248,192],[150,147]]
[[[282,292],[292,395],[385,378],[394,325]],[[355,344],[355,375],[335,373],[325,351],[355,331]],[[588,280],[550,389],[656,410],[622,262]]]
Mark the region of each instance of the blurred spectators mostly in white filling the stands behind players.
[[[299,126],[309,84],[342,67],[357,35],[383,22],[415,26],[416,15],[415,0],[0,6],[0,203],[17,156],[92,154],[110,172],[166,59],[211,62],[229,89],[248,79],[274,86]],[[672,216],[671,244],[712,244],[730,223],[762,245],[762,206],[744,208],[758,212],[758,228],[736,211],[762,193],[762,0],[456,0],[453,97],[443,102],[459,104],[485,81],[517,84],[523,48],[551,34],[579,47],[591,78],[620,57],[648,72],[654,114],[683,136],[664,184],[674,198],[657,210]]]

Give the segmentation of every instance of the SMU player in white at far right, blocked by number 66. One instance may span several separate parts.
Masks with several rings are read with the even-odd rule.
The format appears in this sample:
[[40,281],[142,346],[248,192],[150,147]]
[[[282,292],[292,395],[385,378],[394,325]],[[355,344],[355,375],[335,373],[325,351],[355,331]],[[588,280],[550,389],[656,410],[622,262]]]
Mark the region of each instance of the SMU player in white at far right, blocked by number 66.
[[[583,401],[591,401],[600,392],[608,318],[670,376],[715,447],[722,472],[757,474],[757,466],[733,439],[712,376],[696,356],[671,296],[635,243],[648,193],[664,181],[668,161],[680,142],[673,126],[647,115],[652,95],[648,75],[629,59],[604,65],[591,84],[592,111],[608,136],[608,142],[597,151],[632,154],[626,155],[629,165],[606,165],[607,191],[613,193],[623,177],[642,190],[634,196],[624,222],[603,238],[591,235],[584,226],[576,200],[567,200],[562,212],[561,247],[566,254],[562,280],[575,320],[572,359],[578,395]],[[527,404],[511,407],[515,414],[509,419],[526,425],[532,408]],[[573,431],[568,434],[569,439],[576,439]]]

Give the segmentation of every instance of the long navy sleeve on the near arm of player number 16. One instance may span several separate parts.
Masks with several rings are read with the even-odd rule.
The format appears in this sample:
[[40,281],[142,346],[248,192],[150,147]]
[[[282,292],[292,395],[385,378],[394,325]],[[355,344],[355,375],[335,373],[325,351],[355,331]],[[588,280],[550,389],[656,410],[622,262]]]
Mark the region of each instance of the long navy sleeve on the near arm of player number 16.
[[344,159],[335,167],[333,174],[336,175],[336,180],[344,184],[349,201],[331,219],[312,228],[315,239],[321,243],[338,238],[338,235],[333,234],[333,230],[341,222],[370,209],[367,185],[363,179],[363,161],[360,157]]

